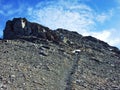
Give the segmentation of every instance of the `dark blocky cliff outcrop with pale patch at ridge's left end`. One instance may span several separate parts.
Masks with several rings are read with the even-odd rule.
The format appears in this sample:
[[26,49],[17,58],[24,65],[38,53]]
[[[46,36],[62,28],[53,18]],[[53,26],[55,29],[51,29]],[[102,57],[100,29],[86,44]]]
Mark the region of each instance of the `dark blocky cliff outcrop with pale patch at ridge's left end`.
[[7,21],[4,39],[17,39],[24,36],[35,36],[51,41],[59,39],[59,36],[53,30],[37,23],[31,23],[25,18],[14,18],[12,21]]

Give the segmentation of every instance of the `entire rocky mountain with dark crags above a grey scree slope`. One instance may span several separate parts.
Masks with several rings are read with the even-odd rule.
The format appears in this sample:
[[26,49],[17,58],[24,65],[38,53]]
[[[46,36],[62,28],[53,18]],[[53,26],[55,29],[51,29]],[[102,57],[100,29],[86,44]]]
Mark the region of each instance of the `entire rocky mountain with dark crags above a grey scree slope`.
[[0,90],[120,90],[120,50],[92,36],[8,20]]

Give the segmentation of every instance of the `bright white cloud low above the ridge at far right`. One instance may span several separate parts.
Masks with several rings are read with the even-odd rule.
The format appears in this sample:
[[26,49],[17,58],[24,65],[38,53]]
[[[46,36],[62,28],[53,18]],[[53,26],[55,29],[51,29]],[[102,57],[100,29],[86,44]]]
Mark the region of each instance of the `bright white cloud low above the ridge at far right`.
[[101,32],[89,32],[89,34],[112,46],[120,47],[120,34],[116,29],[108,29]]

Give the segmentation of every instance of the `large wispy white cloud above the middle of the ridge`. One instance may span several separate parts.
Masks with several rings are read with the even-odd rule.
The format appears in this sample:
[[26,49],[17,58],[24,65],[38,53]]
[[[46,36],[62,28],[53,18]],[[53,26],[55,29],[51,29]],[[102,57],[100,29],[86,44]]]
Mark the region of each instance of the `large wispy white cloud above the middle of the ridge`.
[[38,8],[39,3],[34,8],[28,8],[28,14],[39,23],[46,25],[52,29],[65,28],[72,31],[78,31],[85,34],[86,30],[94,28],[94,12],[85,4],[76,3],[50,3],[44,8]]

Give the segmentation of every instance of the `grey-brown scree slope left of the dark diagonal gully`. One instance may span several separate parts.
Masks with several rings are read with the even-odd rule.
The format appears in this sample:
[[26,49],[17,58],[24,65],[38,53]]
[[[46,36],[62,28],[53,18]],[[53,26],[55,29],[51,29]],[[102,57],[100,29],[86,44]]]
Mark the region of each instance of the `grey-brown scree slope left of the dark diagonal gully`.
[[[1,88],[64,90],[66,76],[72,64],[71,55],[59,52],[60,47],[56,44],[48,42],[47,45],[18,39],[0,41]],[[3,53],[6,50],[9,52]],[[41,55],[41,52],[45,55]]]

